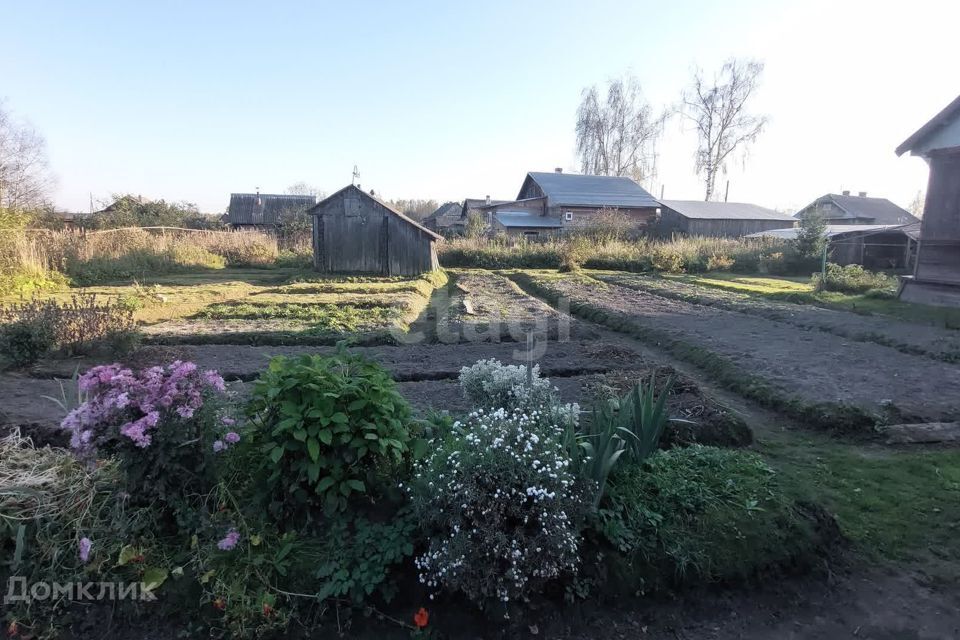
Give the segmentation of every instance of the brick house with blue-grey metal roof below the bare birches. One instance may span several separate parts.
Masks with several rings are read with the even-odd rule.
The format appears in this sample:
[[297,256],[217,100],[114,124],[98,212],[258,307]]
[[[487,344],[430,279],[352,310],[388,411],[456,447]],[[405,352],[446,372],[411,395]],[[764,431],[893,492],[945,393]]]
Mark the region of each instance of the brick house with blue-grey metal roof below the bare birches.
[[557,169],[531,171],[516,200],[481,207],[489,212],[494,229],[527,236],[590,226],[599,212],[609,209],[616,209],[643,229],[656,219],[660,203],[630,178],[570,174]]

